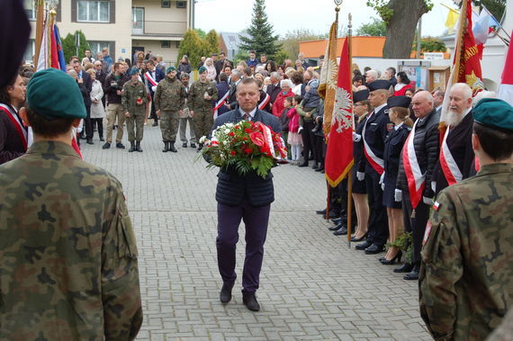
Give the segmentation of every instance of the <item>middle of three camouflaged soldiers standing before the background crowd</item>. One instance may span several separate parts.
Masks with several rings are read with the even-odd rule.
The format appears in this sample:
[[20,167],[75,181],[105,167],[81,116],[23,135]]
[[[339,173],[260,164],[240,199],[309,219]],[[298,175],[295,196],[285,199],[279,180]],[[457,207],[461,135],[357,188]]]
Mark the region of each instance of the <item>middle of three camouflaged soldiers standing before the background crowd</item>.
[[164,141],[163,152],[176,152],[175,140],[178,132],[178,120],[183,113],[185,88],[182,82],[176,78],[175,67],[166,68],[166,78],[158,82],[155,92],[155,110],[160,118],[160,130]]

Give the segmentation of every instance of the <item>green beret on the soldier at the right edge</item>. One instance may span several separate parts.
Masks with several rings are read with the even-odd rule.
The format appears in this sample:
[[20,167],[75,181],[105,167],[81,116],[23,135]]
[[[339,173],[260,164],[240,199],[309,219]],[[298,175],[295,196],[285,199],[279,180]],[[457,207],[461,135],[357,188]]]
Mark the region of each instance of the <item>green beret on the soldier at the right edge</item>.
[[483,98],[473,108],[473,120],[491,129],[513,131],[513,107],[499,98]]

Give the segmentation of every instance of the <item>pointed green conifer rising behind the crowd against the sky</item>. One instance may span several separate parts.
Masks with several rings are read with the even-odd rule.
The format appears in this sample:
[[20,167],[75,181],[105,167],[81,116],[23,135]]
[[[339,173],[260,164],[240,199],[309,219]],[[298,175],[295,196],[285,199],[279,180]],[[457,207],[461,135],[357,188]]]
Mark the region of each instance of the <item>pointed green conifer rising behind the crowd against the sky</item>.
[[273,25],[267,22],[266,0],[255,0],[251,25],[247,28],[249,37],[241,36],[239,49],[255,49],[257,54],[266,53],[268,58],[274,58],[281,48],[277,43],[278,36],[273,34]]

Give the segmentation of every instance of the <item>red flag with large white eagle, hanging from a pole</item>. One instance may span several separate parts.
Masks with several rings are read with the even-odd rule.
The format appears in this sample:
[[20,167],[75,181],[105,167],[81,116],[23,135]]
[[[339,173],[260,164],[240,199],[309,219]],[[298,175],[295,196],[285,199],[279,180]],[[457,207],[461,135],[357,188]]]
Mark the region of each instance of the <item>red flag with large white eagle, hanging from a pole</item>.
[[[353,92],[348,40],[344,40],[338,81],[331,114],[328,150],[325,172],[328,183],[335,187],[342,181],[353,166]],[[326,106],[325,106],[326,108]]]

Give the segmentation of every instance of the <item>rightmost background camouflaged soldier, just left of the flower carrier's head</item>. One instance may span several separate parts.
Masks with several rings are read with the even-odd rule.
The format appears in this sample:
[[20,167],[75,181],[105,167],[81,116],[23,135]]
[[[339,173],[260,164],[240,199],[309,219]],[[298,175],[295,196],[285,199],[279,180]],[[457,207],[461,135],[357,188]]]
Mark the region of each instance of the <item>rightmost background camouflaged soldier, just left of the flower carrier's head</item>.
[[[200,80],[194,82],[189,90],[187,106],[193,117],[194,135],[196,139],[208,136],[213,125],[212,101],[217,101],[218,91],[215,83],[207,79],[206,67],[198,70]],[[202,148],[200,143],[198,149]]]

